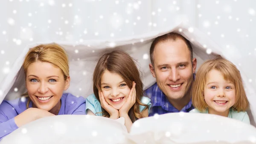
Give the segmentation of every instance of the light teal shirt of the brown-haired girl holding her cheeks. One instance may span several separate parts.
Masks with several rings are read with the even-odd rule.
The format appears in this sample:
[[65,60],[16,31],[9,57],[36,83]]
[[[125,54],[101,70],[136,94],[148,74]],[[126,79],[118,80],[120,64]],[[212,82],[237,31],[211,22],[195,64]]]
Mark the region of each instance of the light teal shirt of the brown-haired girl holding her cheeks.
[[[149,110],[151,107],[150,101],[151,100],[145,96],[143,96],[141,99],[141,102],[143,104],[148,105],[148,113],[149,113]],[[94,94],[89,95],[86,98],[86,105],[85,105],[86,113],[87,113],[87,109],[90,109],[95,115],[102,116],[102,113],[97,113],[97,112],[102,112],[102,107],[100,105],[100,102],[97,100],[97,98],[95,97]],[[142,112],[143,109],[145,109],[145,106],[140,106],[140,112]]]

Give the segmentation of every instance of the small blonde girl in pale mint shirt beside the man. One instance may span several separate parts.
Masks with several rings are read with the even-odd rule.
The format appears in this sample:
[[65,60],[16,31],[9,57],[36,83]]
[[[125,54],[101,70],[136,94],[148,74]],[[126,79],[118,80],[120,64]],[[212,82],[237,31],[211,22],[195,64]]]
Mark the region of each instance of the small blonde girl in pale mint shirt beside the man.
[[250,124],[249,102],[239,70],[230,61],[217,56],[204,62],[196,74],[190,112],[209,113]]

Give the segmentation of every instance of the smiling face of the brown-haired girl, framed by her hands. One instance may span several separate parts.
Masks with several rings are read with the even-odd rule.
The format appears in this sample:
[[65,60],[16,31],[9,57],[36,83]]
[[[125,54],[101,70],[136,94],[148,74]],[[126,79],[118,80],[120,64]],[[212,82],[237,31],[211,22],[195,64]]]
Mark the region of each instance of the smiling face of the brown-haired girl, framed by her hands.
[[124,79],[116,73],[105,70],[100,83],[105,101],[115,109],[120,109],[131,91]]

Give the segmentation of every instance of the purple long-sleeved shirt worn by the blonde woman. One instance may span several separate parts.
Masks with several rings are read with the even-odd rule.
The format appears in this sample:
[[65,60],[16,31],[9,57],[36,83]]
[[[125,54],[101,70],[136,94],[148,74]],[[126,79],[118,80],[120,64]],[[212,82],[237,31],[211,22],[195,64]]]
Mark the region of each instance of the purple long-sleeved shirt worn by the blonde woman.
[[[26,110],[27,101],[28,98],[24,102],[17,98],[13,101],[3,101],[0,104],[0,140],[18,128],[14,117]],[[32,107],[31,101],[29,107]],[[85,98],[77,98],[70,93],[64,93],[61,97],[61,109],[58,115],[85,115]]]

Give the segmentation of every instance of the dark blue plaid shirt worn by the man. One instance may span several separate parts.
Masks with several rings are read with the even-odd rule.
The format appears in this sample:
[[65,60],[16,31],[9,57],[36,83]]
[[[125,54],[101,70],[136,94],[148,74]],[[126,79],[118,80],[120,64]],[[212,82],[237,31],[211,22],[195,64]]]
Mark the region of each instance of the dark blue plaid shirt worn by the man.
[[[195,79],[195,74],[193,75]],[[151,109],[148,116],[153,116],[155,113],[159,115],[170,113],[170,112],[189,112],[194,109],[192,101],[190,99],[189,103],[183,107],[180,111],[172,106],[172,104],[166,98],[166,95],[161,91],[161,89],[155,83],[153,86],[145,90],[145,95],[151,99]]]

